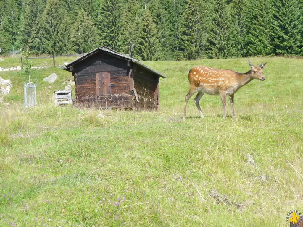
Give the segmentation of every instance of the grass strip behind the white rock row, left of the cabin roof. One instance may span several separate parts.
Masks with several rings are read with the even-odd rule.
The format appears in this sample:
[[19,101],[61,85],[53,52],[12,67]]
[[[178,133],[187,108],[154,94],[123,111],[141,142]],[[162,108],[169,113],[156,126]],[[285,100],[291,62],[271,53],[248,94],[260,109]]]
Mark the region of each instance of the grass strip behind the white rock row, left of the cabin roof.
[[[14,57],[6,57],[6,56],[0,56],[0,58],[3,58],[4,61],[0,61],[0,67],[2,68],[10,68],[10,67],[21,67],[21,60],[20,57],[22,55],[16,54]],[[35,56],[33,56],[35,57]],[[45,57],[49,57],[49,55],[45,55]],[[62,65],[64,62],[71,62],[75,60],[78,57],[55,57],[55,65]],[[38,67],[38,66],[53,66],[53,58],[38,58],[38,59],[30,59],[33,63],[32,67]]]

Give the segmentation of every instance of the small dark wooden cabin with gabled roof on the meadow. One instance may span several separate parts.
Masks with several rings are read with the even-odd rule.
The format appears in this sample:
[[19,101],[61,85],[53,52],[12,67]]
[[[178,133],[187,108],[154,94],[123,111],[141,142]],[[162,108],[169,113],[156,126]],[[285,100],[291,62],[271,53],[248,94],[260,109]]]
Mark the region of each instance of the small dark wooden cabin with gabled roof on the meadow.
[[159,110],[159,78],[166,77],[134,58],[102,46],[63,69],[74,76],[76,104]]

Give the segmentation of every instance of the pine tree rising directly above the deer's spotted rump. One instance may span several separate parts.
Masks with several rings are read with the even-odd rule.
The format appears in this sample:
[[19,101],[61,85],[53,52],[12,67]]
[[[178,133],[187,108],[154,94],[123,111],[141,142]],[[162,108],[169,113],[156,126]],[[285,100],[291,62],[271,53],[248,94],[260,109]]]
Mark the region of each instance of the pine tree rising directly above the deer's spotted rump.
[[204,18],[201,1],[188,0],[179,28],[179,51],[187,60],[202,56]]

